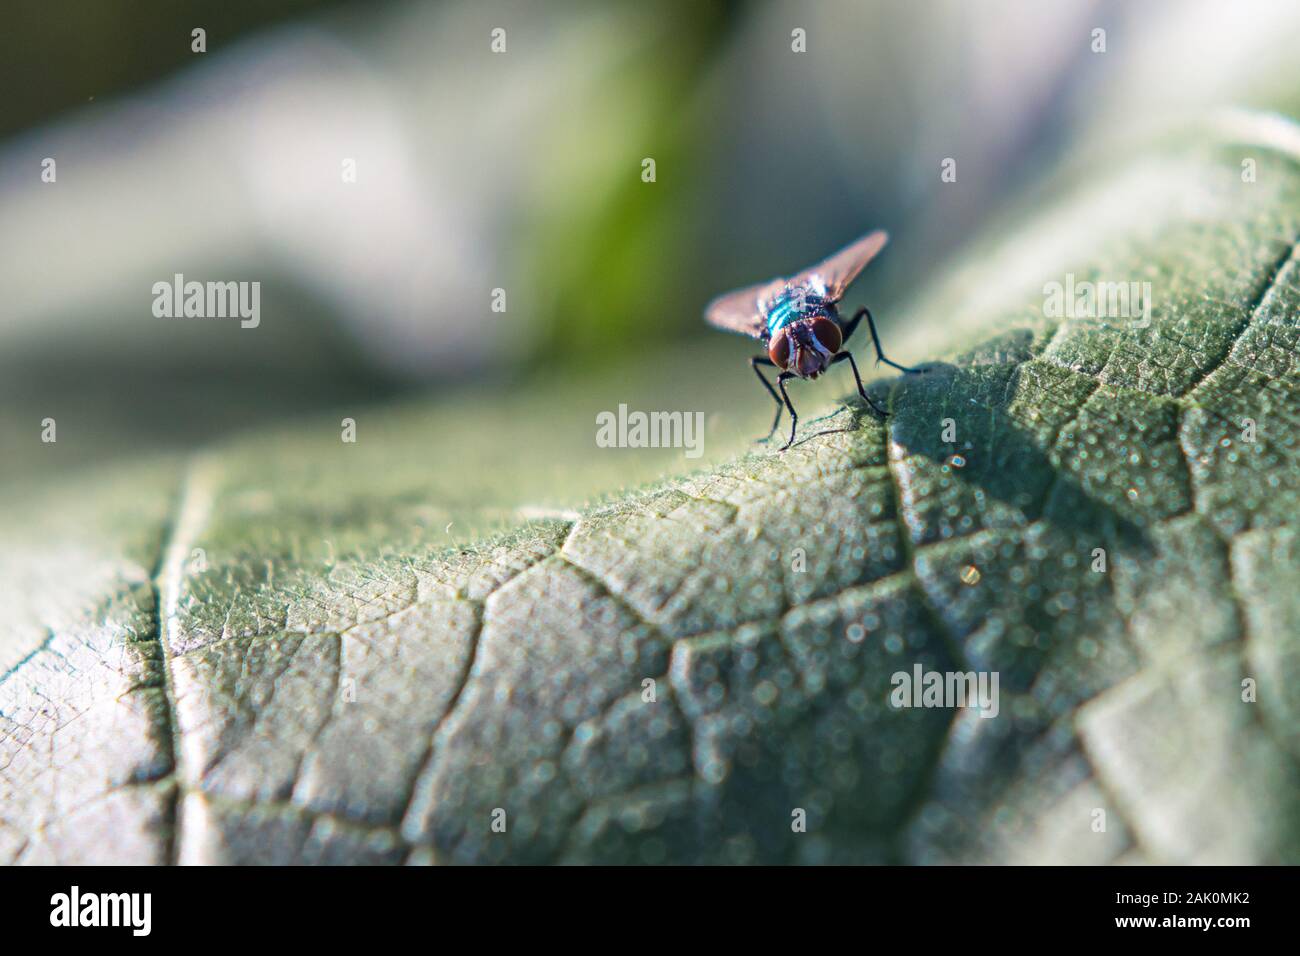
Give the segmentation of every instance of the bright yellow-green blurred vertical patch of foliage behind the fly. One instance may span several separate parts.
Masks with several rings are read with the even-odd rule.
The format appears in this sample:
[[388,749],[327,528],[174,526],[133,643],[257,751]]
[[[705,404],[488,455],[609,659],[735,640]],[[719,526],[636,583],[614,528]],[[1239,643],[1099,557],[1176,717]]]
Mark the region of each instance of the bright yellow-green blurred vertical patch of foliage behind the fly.
[[720,4],[667,4],[575,31],[573,56],[627,44],[628,34],[636,46],[604,75],[585,77],[580,108],[556,111],[530,164],[524,194],[534,208],[520,247],[529,286],[549,297],[538,363],[581,368],[680,336],[711,294],[696,287],[682,228],[712,178],[701,148],[712,120],[693,94],[725,30]]

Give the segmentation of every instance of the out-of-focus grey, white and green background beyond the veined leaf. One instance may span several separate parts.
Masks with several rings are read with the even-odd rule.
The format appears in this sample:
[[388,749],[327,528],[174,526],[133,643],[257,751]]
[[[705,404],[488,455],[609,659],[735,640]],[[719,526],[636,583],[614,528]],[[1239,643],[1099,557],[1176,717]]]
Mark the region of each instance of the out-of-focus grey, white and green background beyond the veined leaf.
[[[885,228],[850,304],[888,334],[1062,161],[1156,116],[1300,101],[1291,0],[6,0],[0,22],[18,480],[555,381],[766,424],[753,347],[702,321],[712,295]],[[259,328],[156,317],[174,273],[260,281]],[[573,429],[594,450],[590,408]]]

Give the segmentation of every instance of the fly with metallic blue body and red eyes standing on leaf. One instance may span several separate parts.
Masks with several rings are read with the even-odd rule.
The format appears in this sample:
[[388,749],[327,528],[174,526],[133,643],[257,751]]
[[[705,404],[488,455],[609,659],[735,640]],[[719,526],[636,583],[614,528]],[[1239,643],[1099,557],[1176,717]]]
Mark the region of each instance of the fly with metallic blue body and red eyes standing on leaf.
[[[794,431],[800,421],[794,406],[790,405],[790,397],[785,393],[785,382],[790,378],[816,378],[836,363],[849,363],[862,401],[878,415],[884,416],[884,410],[872,402],[867,390],[862,388],[858,363],[844,347],[863,319],[871,330],[878,363],[884,362],[900,372],[920,371],[885,358],[880,350],[876,321],[866,306],[854,312],[848,321],[840,317],[838,303],[845,290],[867,263],[880,254],[888,241],[889,237],[884,232],[876,230],[792,278],[774,278],[770,282],[759,282],[719,295],[705,310],[705,317],[711,325],[753,336],[767,347],[767,354],[751,358],[749,367],[776,402],[776,416],[772,419],[767,438],[772,437],[781,423],[781,408],[788,408],[790,412],[790,437],[781,446],[781,451],[794,442]],[[762,365],[779,369],[775,389],[763,375]]]

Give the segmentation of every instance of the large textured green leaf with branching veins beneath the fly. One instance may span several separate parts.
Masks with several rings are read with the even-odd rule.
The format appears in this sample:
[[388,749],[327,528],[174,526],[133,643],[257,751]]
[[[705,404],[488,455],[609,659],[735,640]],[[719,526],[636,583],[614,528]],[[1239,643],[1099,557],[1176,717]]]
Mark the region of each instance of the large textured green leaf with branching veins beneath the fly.
[[[731,342],[9,489],[0,858],[1296,862],[1297,140],[1041,191],[888,420],[800,389],[785,454]],[[1067,273],[1150,325],[1044,316]],[[706,394],[714,463],[620,492],[692,463],[593,410]],[[915,666],[997,715],[890,706]]]

